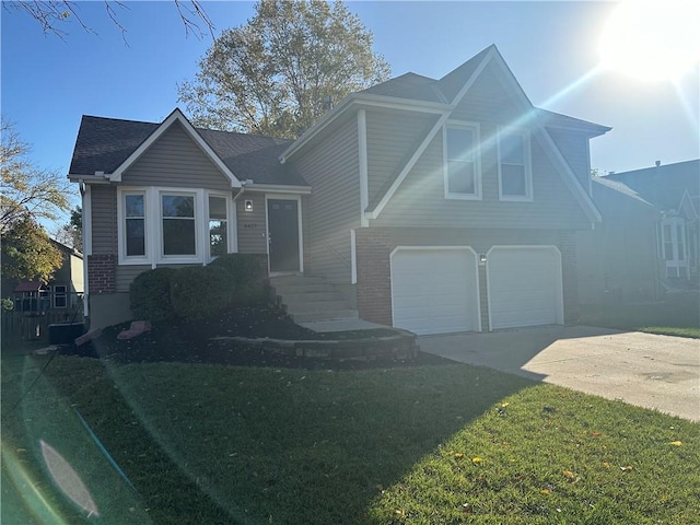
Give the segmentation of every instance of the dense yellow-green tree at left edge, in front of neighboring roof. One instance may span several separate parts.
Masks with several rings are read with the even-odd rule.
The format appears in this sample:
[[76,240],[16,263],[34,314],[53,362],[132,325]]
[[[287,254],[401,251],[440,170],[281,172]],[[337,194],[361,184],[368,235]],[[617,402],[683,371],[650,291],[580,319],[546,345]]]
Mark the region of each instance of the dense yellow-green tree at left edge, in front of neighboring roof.
[[2,275],[21,281],[48,282],[63,261],[62,252],[28,214],[3,231]]

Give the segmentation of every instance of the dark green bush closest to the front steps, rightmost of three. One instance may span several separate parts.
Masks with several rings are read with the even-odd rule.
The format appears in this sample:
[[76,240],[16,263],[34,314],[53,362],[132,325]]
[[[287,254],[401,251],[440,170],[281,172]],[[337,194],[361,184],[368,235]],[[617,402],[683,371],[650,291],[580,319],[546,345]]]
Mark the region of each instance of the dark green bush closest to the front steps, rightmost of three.
[[247,305],[265,301],[265,272],[255,255],[226,254],[217,257],[209,266],[225,270],[232,304]]

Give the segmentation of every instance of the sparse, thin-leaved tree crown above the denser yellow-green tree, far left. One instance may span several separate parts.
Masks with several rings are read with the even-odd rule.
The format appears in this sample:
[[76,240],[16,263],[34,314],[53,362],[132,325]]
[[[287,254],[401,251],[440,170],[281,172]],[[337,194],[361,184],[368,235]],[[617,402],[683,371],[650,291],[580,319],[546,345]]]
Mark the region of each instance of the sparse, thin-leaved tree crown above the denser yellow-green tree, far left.
[[56,220],[70,208],[70,185],[66,177],[37,167],[27,155],[30,147],[12,125],[2,121],[0,145],[0,232],[11,229],[28,213],[34,220]]

